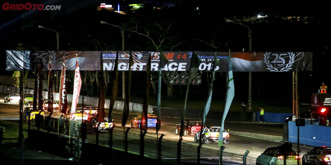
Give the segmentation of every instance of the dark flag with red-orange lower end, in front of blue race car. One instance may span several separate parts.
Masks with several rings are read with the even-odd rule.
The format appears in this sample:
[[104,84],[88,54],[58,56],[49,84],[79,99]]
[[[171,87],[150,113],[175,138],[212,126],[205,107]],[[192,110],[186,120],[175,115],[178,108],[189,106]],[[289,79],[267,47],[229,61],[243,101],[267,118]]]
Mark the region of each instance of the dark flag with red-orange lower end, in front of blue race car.
[[147,131],[147,120],[148,120],[148,97],[149,88],[151,87],[151,55],[148,56],[147,67],[146,67],[146,89],[143,96],[143,112],[140,124],[140,130]]

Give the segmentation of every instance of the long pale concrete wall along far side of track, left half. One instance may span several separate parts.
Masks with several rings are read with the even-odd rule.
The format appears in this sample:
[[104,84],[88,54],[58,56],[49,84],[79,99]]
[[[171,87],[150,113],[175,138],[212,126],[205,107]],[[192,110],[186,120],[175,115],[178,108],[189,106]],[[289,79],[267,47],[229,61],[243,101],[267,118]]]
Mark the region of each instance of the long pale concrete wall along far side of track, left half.
[[[24,89],[24,93],[25,94],[33,94],[33,89]],[[0,85],[0,92],[2,93],[20,93],[20,88],[17,87],[13,87],[13,86],[4,86],[4,85]],[[47,96],[48,96],[48,91],[43,91],[43,100],[47,100]],[[57,92],[53,92],[53,97],[54,100],[59,101],[60,100],[60,95]],[[68,102],[71,103],[72,102],[72,94],[68,94],[67,95],[67,99]],[[82,104],[82,100],[83,100],[83,96],[79,96],[79,100],[78,100],[78,104]],[[98,101],[99,98],[96,97],[89,97],[89,96],[84,96],[84,105],[88,105],[88,106],[98,106]],[[109,105],[110,105],[110,99],[106,99],[105,101],[105,109],[109,109]],[[124,102],[123,101],[118,101],[115,100],[115,104],[113,107],[113,110],[115,111],[123,111],[123,107],[124,107]],[[155,106],[148,106],[148,113],[152,113],[153,112],[153,107]],[[71,107],[68,107],[68,109],[70,109]],[[143,108],[143,104],[140,103],[132,103],[130,102],[129,104],[129,111],[130,113],[141,113],[142,112],[142,108]],[[106,111],[107,111],[106,110]]]

